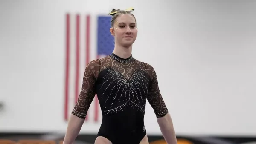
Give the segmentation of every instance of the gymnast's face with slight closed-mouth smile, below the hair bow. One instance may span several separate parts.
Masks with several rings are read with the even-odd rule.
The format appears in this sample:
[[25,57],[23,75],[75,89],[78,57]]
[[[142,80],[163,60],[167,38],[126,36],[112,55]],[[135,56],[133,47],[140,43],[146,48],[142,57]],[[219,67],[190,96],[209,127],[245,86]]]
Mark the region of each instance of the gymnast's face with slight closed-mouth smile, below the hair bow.
[[130,47],[137,37],[136,20],[131,14],[121,14],[116,18],[110,31],[117,44]]

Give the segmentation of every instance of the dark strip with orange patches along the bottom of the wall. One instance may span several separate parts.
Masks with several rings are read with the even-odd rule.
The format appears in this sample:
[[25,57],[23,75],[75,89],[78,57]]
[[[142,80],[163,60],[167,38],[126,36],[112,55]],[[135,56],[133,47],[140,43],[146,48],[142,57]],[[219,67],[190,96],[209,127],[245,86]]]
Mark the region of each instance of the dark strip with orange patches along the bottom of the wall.
[[[0,144],[62,144],[64,135],[0,133]],[[96,135],[79,135],[74,144],[94,144]],[[149,144],[167,144],[163,137],[148,135]],[[182,137],[178,144],[256,144],[256,137]]]

